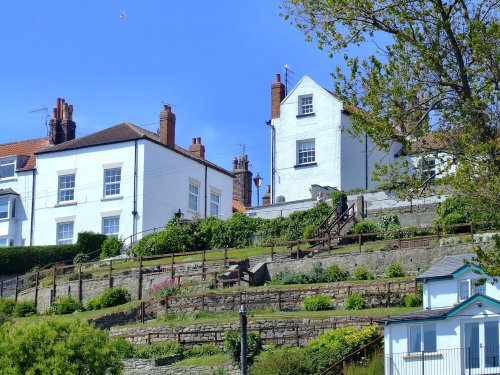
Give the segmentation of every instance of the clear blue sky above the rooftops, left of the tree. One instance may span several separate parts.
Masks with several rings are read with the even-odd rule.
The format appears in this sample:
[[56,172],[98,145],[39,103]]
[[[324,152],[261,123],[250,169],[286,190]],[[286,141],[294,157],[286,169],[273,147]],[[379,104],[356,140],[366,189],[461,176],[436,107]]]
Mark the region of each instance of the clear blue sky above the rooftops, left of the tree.
[[331,89],[329,72],[343,60],[305,42],[279,4],[2,0],[0,143],[46,135],[44,113],[30,111],[51,114],[58,97],[74,106],[77,137],[123,121],[156,131],[167,102],[178,145],[201,136],[207,159],[231,169],[245,144],[269,184],[275,74],[289,64],[292,83],[309,75]]

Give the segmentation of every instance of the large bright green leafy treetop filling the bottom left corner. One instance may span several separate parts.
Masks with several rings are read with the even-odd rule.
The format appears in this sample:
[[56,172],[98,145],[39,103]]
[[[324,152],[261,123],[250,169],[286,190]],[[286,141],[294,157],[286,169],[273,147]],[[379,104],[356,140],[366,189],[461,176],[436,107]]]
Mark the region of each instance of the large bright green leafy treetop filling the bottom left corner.
[[123,364],[104,331],[85,322],[48,320],[0,326],[5,375],[120,374]]

